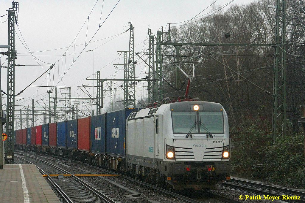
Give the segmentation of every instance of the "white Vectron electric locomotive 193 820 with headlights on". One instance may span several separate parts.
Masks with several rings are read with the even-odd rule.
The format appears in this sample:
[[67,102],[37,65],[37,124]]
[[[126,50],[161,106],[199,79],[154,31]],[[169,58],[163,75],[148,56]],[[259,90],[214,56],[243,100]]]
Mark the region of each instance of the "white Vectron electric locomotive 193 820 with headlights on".
[[172,190],[216,189],[230,179],[228,116],[219,103],[183,101],[133,112],[126,126],[131,175]]

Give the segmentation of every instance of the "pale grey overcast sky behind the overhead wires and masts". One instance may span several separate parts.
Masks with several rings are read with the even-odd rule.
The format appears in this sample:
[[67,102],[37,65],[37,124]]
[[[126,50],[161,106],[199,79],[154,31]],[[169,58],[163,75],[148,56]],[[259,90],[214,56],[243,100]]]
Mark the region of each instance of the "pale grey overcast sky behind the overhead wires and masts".
[[[135,27],[135,52],[140,52],[148,47],[148,40],[145,41],[145,39],[147,39],[148,28],[151,28],[152,33],[156,34],[156,31],[160,29],[160,26],[165,27],[167,26],[167,23],[177,23],[192,19],[214,1],[120,0],[116,8],[109,15],[113,7],[116,5],[117,0],[98,0],[96,5],[96,0],[20,0],[18,8],[19,26],[15,25],[15,47],[17,50],[17,59],[15,60],[15,64],[37,65],[39,63],[42,67],[16,67],[15,94],[19,93],[23,88],[41,75],[44,72],[43,68],[45,70],[48,69],[48,64],[55,63],[55,69],[51,70],[50,75],[43,75],[33,85],[71,87],[72,97],[87,97],[79,88],[77,88],[77,86],[82,86],[82,84],[92,85],[93,81],[85,81],[85,78],[95,78],[93,74],[95,74],[96,71],[101,71],[101,78],[119,79],[124,77],[123,67],[119,66],[116,70],[113,64],[124,62],[124,57],[119,57],[117,51],[128,50],[129,32],[123,33],[124,30],[128,29],[128,22],[132,22]],[[218,0],[215,5],[225,5],[230,1],[231,0]],[[6,10],[12,7],[11,2],[12,1],[8,0],[0,1],[0,15],[7,14]],[[251,1],[235,0],[230,5],[245,4],[249,2]],[[211,10],[212,6],[200,15],[208,13]],[[88,20],[89,14],[90,16]],[[109,17],[106,19],[108,15]],[[8,22],[5,21],[6,19],[7,15],[0,18],[1,45],[7,45]],[[105,19],[105,23],[102,24]],[[99,29],[100,24],[102,25]],[[176,25],[183,25],[183,23]],[[77,33],[79,34],[77,35]],[[95,36],[92,38],[94,34]],[[114,36],[117,34],[120,35]],[[19,38],[22,40],[24,45],[21,43]],[[91,42],[94,42],[89,43],[85,47],[85,43],[88,43],[90,40]],[[28,46],[27,49],[30,50],[30,52],[32,52],[32,54],[39,60],[36,59],[36,61],[24,46]],[[67,47],[69,46],[70,48],[68,49]],[[87,52],[88,50],[94,51]],[[3,66],[7,66],[7,61],[5,61],[6,56],[1,56],[1,65],[4,63]],[[136,66],[136,77],[145,77],[147,67],[144,66],[144,63],[140,63],[141,60],[138,62],[139,63]],[[7,70],[6,68],[1,68],[1,71],[2,90],[6,92]],[[113,87],[118,87],[120,84],[121,83],[117,83],[116,85],[113,84]],[[147,83],[139,83],[137,85],[136,96],[138,99],[141,98],[141,96],[146,97],[146,88],[141,88],[141,86],[146,85]],[[104,87],[106,86],[106,83],[104,83]],[[94,97],[96,92],[95,89],[96,88],[88,87],[88,91],[91,95],[94,94]],[[31,105],[32,98],[34,98],[35,106],[40,106],[39,104],[44,105],[43,101],[45,104],[48,104],[47,90],[48,88],[46,87],[27,88],[27,90],[16,98],[15,110],[19,111],[21,108],[21,106],[17,105]],[[61,89],[61,92],[58,91],[58,97],[61,93],[68,93],[68,91],[66,89]],[[122,93],[123,90],[120,90],[119,88],[118,91],[115,92],[116,96],[113,98],[113,101],[117,101],[119,97],[122,97]],[[54,92],[52,95],[53,94]],[[24,99],[19,100],[20,97]],[[109,105],[109,101],[109,91],[105,91],[104,107]],[[2,104],[5,103],[6,99],[2,99]],[[90,105],[87,105],[87,107],[89,110],[95,109],[95,107]],[[87,107],[83,105],[80,108],[88,114]],[[15,111],[15,114],[19,114],[18,111]],[[25,116],[23,116],[23,118],[25,118]],[[37,120],[37,124],[43,122],[41,119],[42,117]],[[19,124],[17,126],[19,126]]]

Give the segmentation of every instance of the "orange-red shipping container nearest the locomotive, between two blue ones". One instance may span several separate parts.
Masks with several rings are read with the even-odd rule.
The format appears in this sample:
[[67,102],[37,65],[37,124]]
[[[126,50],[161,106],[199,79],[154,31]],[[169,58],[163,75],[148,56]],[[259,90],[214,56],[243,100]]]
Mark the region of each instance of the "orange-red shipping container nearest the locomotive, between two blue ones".
[[77,136],[77,149],[80,151],[89,152],[90,146],[90,117],[78,119],[78,136]]

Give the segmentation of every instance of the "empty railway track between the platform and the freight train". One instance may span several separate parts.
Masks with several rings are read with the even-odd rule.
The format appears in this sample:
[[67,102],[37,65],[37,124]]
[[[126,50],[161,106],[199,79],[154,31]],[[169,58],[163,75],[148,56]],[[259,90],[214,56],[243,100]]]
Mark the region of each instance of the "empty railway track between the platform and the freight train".
[[[15,153],[15,154],[20,154],[24,156],[24,154],[21,153]],[[16,158],[19,158],[21,160],[24,160],[22,157],[16,156]],[[102,193],[101,191],[97,190],[96,188],[92,187],[90,184],[87,182],[81,180],[81,178],[78,178],[74,176],[73,174],[69,173],[68,171],[52,164],[49,163],[45,160],[38,159],[36,157],[32,156],[27,156],[29,159],[35,160],[35,162],[30,162],[27,160],[28,163],[34,164],[38,170],[41,171],[41,173],[46,174],[47,173],[42,170],[41,168],[46,167],[47,170],[50,170],[50,167],[53,168],[52,174],[68,174],[71,175],[71,179],[67,179],[69,181],[55,181],[52,179],[50,176],[48,176],[48,179],[53,182],[54,187],[56,188],[57,191],[59,191],[59,194],[63,197],[63,199],[66,202],[84,202],[87,203],[88,200],[90,200],[91,203],[100,203],[100,202],[105,202],[105,203],[120,203],[120,201],[114,200],[109,198],[106,194]],[[54,170],[55,169],[55,170]],[[59,180],[59,179],[56,179]],[[52,184],[52,185],[53,185]]]

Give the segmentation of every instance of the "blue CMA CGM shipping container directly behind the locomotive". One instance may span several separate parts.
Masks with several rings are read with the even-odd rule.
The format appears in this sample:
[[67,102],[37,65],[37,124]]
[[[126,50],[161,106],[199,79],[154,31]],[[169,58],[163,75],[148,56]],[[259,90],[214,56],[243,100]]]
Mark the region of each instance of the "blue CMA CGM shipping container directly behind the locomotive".
[[128,115],[134,109],[122,109],[106,113],[106,153],[125,156],[125,126]]

